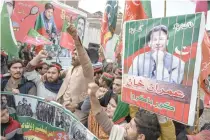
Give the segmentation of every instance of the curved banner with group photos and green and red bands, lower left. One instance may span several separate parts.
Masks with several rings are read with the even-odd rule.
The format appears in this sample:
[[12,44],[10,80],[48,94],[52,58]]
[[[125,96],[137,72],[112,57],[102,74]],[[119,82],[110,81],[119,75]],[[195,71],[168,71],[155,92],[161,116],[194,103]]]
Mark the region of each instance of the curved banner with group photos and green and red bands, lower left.
[[75,116],[56,102],[25,94],[2,92],[1,103],[21,124],[27,140],[97,140]]

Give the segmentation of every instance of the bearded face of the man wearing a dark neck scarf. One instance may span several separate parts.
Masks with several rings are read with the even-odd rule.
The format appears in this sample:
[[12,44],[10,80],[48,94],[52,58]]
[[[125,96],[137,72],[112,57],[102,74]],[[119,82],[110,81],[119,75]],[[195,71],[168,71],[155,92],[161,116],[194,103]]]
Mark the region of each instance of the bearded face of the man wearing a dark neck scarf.
[[56,67],[50,67],[47,71],[47,81],[49,83],[56,82],[59,78],[59,72]]

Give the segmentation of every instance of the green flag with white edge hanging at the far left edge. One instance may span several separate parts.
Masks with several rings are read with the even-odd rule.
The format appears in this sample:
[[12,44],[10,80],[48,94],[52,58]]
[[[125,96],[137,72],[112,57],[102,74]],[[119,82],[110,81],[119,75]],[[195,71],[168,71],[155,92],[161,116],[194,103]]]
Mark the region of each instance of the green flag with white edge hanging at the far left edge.
[[17,57],[18,48],[12,28],[12,22],[7,11],[6,4],[3,4],[1,11],[1,49],[7,52],[8,56]]

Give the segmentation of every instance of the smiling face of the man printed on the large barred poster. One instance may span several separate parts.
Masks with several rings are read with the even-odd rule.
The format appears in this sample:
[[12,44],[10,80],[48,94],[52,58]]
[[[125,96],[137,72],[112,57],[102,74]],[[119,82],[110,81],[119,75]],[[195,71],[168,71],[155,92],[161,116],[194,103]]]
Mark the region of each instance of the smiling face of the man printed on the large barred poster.
[[150,38],[149,46],[153,52],[166,51],[168,36],[165,32],[162,30],[155,31],[151,34]]

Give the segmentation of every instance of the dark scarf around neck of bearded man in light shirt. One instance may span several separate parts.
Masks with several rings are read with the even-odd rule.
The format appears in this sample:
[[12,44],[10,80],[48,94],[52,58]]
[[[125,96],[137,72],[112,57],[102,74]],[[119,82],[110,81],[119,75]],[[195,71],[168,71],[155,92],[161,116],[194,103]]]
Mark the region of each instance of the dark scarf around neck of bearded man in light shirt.
[[62,83],[63,83],[63,80],[58,80],[57,82],[53,82],[53,83],[49,83],[48,81],[46,81],[44,82],[44,86],[49,91],[57,94]]

